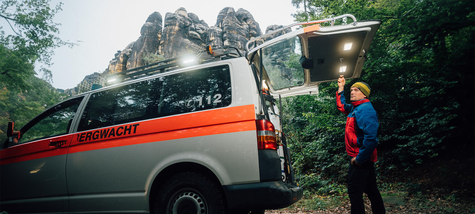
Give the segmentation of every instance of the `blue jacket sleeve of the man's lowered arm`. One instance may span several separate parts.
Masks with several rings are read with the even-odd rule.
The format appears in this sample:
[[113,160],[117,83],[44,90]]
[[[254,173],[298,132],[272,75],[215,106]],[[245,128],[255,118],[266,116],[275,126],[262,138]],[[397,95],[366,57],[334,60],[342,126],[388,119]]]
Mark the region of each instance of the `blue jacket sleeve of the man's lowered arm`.
[[363,130],[363,146],[356,156],[358,163],[364,163],[371,158],[376,146],[378,146],[378,117],[373,108],[361,108],[355,112],[356,124]]

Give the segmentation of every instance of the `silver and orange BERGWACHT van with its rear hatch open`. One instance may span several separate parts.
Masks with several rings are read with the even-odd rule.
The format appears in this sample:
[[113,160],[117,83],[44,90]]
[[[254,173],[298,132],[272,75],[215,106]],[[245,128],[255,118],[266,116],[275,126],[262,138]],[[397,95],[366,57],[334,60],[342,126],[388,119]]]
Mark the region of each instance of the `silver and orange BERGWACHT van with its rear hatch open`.
[[[336,19],[353,22],[316,24]],[[222,214],[292,205],[303,190],[279,102],[317,93],[340,74],[359,77],[380,23],[350,14],[295,23],[249,40],[244,56],[207,45],[108,75],[19,131],[10,122],[0,212]]]

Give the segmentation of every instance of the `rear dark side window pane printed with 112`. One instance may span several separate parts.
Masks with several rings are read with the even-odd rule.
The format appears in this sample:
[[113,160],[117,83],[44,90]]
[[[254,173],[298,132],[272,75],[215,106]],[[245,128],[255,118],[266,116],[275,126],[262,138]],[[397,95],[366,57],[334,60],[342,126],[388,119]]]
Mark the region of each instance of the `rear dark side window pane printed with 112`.
[[221,108],[231,104],[229,65],[165,76],[154,115]]

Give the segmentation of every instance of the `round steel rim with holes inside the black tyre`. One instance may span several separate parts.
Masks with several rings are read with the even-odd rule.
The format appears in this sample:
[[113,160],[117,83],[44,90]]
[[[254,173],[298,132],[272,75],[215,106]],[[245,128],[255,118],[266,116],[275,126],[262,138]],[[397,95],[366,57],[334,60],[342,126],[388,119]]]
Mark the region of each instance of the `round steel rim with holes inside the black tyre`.
[[206,202],[198,191],[184,189],[173,195],[170,206],[172,214],[208,214]]

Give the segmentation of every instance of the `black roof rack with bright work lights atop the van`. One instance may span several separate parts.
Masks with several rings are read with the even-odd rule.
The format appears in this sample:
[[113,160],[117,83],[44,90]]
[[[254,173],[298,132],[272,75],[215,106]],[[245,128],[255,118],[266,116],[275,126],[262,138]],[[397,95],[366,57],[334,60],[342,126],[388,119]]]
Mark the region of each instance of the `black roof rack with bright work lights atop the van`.
[[[206,54],[205,54],[206,53]],[[202,45],[197,54],[183,55],[105,76],[105,85],[113,85],[153,74],[161,74],[192,65],[242,57],[236,46]]]

